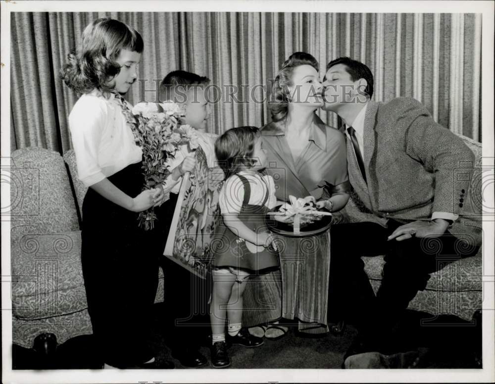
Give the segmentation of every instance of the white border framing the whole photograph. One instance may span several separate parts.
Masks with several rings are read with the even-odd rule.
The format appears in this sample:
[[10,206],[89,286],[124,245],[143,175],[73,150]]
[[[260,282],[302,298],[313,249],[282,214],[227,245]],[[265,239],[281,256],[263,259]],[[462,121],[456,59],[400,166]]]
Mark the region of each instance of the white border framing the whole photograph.
[[[4,1],[1,0],[1,165],[10,164],[10,12],[348,12],[348,13],[482,13],[482,133],[483,158],[494,166],[494,2],[493,1]],[[484,199],[494,199],[494,179],[484,191]],[[10,204],[8,183],[1,183],[1,207]],[[3,215],[3,214],[2,214]],[[494,222],[483,222],[485,234],[494,234]],[[483,366],[482,370],[329,370],[329,369],[247,369],[247,370],[12,370],[12,322],[10,287],[10,223],[1,221],[1,313],[3,383],[328,383],[328,382],[493,382],[494,359],[494,238],[485,236]],[[489,305],[491,303],[491,305]]]

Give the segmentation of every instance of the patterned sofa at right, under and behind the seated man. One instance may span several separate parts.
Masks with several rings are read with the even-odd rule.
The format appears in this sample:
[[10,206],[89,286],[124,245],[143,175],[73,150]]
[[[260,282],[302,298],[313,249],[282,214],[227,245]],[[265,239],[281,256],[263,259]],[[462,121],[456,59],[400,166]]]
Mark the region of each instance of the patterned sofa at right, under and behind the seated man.
[[[460,135],[459,135],[460,136]],[[482,167],[481,144],[461,136],[464,143],[476,156],[475,171],[466,194],[463,214],[459,220],[461,226],[453,227],[452,233],[466,240],[482,243]],[[469,166],[468,164],[466,166]],[[351,193],[351,199],[343,212],[343,220],[350,222],[376,221],[366,212],[357,195]],[[432,321],[439,315],[455,315],[466,321],[473,321],[473,315],[482,308],[482,247],[475,256],[460,259],[431,275],[425,290],[419,291],[409,303],[409,309],[432,314]],[[453,256],[455,258],[455,256]],[[380,287],[383,257],[363,257],[365,271],[375,292]]]

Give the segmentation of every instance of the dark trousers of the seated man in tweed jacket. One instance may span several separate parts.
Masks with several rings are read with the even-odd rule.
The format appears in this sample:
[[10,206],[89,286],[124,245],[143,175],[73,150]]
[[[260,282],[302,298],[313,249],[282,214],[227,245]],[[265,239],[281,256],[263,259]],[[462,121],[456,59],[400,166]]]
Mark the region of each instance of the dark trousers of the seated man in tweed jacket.
[[[395,347],[392,330],[409,301],[426,287],[430,273],[478,251],[448,231],[438,238],[388,241],[400,225],[389,220],[388,228],[371,222],[331,228],[329,317],[353,323],[378,350]],[[361,256],[377,255],[385,255],[385,265],[375,297]]]

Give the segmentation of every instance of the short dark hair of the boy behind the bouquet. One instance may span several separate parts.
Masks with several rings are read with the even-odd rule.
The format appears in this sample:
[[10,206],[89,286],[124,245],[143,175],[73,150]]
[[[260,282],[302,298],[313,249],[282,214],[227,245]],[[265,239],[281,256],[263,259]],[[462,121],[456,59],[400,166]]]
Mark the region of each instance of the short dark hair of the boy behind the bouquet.
[[160,84],[160,100],[173,100],[181,103],[185,102],[186,93],[189,89],[198,86],[203,87],[208,85],[209,82],[210,79],[206,76],[199,76],[193,72],[182,70],[169,72]]

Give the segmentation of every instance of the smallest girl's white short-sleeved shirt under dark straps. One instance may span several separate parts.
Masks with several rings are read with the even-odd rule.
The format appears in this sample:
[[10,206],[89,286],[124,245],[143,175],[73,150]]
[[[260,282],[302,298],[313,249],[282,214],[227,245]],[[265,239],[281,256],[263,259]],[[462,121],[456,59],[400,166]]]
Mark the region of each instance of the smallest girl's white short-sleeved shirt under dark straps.
[[[248,204],[261,205],[265,200],[266,193],[268,198],[265,205],[268,209],[272,209],[277,198],[275,197],[275,183],[269,175],[261,176],[258,172],[240,172],[251,187],[251,195]],[[218,204],[220,212],[225,213],[240,213],[244,201],[244,185],[241,179],[236,176],[230,176],[222,186],[220,195],[218,196]]]

